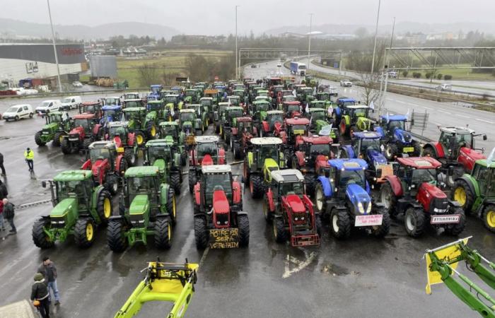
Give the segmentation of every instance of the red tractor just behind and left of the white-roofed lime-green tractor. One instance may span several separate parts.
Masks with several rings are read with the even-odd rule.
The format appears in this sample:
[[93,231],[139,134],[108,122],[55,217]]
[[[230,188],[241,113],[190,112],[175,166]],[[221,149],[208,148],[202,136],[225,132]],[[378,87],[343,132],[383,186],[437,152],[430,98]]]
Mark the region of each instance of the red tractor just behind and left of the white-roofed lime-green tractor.
[[231,129],[231,150],[235,159],[243,159],[245,150],[251,147],[251,139],[258,136],[251,117],[238,117]]

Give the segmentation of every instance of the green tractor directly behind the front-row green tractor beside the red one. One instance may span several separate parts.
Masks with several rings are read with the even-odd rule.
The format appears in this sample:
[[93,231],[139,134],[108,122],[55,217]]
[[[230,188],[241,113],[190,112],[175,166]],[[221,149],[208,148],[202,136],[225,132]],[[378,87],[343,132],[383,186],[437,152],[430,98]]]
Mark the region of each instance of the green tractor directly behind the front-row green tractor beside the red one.
[[166,136],[165,139],[151,140],[146,143],[144,165],[158,167],[161,182],[170,184],[175,193],[180,194],[182,166],[180,165],[180,153],[172,136]]

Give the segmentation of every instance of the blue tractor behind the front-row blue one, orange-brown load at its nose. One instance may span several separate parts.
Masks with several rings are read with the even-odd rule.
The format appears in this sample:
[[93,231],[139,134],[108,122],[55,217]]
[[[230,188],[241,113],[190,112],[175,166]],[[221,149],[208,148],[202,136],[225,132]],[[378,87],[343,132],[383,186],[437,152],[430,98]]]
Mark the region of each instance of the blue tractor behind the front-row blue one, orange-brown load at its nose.
[[383,155],[382,136],[376,131],[355,132],[350,145],[342,146],[339,158],[360,158],[366,161],[366,179],[379,187],[387,175],[393,175],[392,163]]

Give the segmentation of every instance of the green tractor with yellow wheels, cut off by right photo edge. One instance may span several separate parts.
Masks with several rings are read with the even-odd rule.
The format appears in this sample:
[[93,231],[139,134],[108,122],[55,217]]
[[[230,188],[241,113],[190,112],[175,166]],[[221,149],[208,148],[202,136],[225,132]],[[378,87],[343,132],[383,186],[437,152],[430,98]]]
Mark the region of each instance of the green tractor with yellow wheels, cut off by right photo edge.
[[485,228],[495,233],[495,163],[491,161],[493,153],[494,151],[488,159],[476,160],[470,174],[455,180],[453,195],[466,213],[481,216]]

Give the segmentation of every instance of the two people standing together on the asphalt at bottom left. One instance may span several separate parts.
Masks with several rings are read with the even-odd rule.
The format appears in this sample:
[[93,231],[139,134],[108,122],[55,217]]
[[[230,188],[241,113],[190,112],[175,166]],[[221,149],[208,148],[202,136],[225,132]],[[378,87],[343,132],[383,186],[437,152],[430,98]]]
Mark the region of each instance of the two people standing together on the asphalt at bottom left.
[[60,305],[59,289],[57,288],[57,267],[50,257],[43,257],[42,263],[35,273],[35,283],[31,287],[31,301],[39,310],[42,318],[50,317],[50,303],[52,292],[54,305]]

